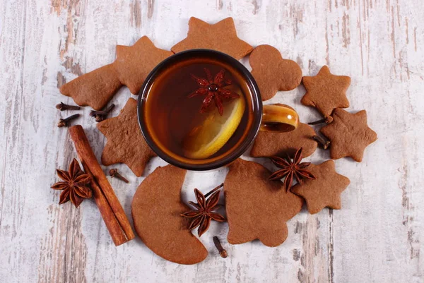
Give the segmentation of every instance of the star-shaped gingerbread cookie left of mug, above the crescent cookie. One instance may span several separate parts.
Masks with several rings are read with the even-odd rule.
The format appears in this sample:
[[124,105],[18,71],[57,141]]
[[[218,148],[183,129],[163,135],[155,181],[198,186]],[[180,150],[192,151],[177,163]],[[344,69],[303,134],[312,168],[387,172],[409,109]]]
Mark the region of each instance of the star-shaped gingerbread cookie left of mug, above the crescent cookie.
[[102,164],[125,163],[136,176],[141,176],[155,152],[141,134],[136,100],[130,98],[118,116],[98,123],[97,127],[107,138]]

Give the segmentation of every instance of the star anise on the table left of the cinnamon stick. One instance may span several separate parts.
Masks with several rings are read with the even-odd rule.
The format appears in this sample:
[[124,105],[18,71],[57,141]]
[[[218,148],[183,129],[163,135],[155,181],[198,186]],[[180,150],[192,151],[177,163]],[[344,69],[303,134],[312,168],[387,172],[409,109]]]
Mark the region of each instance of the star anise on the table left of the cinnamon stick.
[[64,180],[54,183],[52,186],[54,190],[62,190],[59,205],[71,200],[71,203],[78,207],[84,198],[91,198],[91,189],[88,187],[91,177],[84,174],[75,158],[69,165],[69,171],[57,169],[57,176]]

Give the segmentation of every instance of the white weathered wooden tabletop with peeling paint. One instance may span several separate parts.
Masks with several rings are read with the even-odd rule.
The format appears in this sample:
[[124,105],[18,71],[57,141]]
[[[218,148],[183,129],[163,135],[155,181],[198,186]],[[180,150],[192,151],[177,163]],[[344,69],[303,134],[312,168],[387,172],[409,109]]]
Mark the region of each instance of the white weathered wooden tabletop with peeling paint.
[[[379,140],[361,163],[336,161],[351,179],[342,210],[303,210],[278,248],[230,246],[227,224],[215,222],[201,239],[208,258],[184,266],[139,239],[115,247],[93,201],[59,206],[49,186],[55,169],[76,157],[66,129],[56,126],[71,112],[54,105],[72,102],[58,86],[111,63],[116,44],[142,35],[170,49],[187,35],[190,16],[210,23],[232,16],[243,40],[277,47],[304,75],[329,65],[351,76],[349,110],[366,109]],[[422,0],[0,1],[0,282],[424,282],[423,28]],[[269,103],[290,104],[302,121],[314,121],[319,114],[300,104],[304,92],[300,86]],[[119,91],[112,116],[129,97]],[[78,123],[100,159],[105,138],[89,111]],[[317,150],[309,159],[328,158]],[[163,164],[151,160],[145,176]],[[131,181],[111,181],[130,216],[143,177],[117,168]],[[189,172],[184,199],[194,187],[216,186],[226,170]],[[214,235],[224,239],[227,259]]]

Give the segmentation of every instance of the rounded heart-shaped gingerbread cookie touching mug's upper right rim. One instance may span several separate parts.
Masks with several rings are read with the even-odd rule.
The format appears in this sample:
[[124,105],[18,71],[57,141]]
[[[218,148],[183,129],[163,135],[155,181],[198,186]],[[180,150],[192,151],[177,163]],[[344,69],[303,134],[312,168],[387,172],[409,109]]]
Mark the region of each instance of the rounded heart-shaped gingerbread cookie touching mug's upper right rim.
[[278,90],[293,90],[302,81],[300,66],[295,61],[283,59],[278,49],[271,45],[259,45],[253,49],[249,63],[262,100],[271,99]]

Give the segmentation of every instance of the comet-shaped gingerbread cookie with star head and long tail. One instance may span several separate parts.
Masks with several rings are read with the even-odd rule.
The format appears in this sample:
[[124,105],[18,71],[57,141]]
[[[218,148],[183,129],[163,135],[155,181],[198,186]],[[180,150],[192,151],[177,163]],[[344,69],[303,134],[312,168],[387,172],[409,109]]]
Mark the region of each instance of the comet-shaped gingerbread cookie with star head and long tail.
[[143,81],[153,68],[173,53],[155,47],[148,37],[133,46],[117,45],[117,59],[61,86],[62,95],[72,97],[80,106],[101,110],[122,85],[138,95]]

